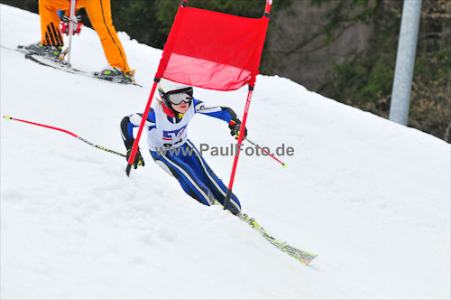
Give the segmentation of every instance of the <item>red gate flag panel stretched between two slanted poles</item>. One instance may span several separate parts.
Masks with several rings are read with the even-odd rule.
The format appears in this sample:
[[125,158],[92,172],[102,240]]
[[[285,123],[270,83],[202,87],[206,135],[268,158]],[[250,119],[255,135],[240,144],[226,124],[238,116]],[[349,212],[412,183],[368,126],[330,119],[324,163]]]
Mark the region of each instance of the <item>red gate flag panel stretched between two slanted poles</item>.
[[247,18],[180,7],[156,78],[204,89],[254,85],[269,17]]

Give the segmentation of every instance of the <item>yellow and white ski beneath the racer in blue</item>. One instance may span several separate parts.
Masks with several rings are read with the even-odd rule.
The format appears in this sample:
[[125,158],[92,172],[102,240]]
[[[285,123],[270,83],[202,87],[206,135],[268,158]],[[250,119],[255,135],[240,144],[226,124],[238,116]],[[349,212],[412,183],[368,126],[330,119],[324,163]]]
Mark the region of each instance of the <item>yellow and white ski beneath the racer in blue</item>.
[[245,213],[239,213],[238,218],[240,220],[244,220],[249,226],[251,226],[254,230],[257,230],[264,239],[269,241],[272,246],[280,249],[282,252],[290,255],[291,258],[295,258],[299,260],[299,262],[303,265],[308,266],[308,264],[316,257],[318,254],[312,254],[307,251],[301,250],[299,248],[295,248],[290,246],[287,242],[282,242],[278,239],[272,238],[272,236],[260,226],[260,224],[253,218],[249,217]]

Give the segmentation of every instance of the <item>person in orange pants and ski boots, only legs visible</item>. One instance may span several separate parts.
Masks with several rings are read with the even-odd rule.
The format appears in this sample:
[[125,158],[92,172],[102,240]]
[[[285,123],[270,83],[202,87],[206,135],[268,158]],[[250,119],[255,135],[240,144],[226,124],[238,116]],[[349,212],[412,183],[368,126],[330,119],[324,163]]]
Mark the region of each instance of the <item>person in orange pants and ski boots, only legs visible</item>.
[[[124,48],[113,26],[110,0],[77,0],[76,9],[81,7],[85,7],[89,21],[102,42],[106,60],[112,67],[112,70],[102,70],[99,77],[121,82],[133,81],[134,70],[130,70],[128,66]],[[69,0],[39,0],[41,42],[27,46],[28,52],[55,58],[60,56],[64,42],[60,33],[58,11],[69,12],[69,9]]]

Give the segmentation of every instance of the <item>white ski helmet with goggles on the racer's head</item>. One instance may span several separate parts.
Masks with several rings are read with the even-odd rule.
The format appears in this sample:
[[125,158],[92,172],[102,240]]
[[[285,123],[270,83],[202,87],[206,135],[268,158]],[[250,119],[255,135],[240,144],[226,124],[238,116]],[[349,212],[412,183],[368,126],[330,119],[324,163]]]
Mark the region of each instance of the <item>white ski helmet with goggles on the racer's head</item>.
[[182,101],[190,102],[193,98],[193,87],[170,80],[161,79],[158,84],[158,93],[161,101],[167,108],[172,108],[172,104],[178,105]]

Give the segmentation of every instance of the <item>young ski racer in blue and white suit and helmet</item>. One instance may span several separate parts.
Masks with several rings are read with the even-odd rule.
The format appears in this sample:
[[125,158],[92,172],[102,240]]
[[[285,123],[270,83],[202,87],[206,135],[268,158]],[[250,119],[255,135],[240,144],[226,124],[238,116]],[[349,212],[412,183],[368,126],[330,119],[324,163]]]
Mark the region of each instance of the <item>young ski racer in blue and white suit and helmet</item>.
[[[200,113],[226,121],[231,135],[237,136],[241,121],[231,108],[208,106],[193,98],[192,87],[162,79],[158,92],[159,105],[151,108],[144,125],[148,130],[147,143],[153,160],[177,178],[183,190],[198,202],[213,205],[217,200],[224,204],[226,185],[211,171],[198,149],[189,141],[186,127],[191,118]],[[122,119],[121,131],[127,148],[127,160],[134,142],[133,127],[139,127],[142,118],[143,114],[133,114]],[[138,165],[144,165],[139,148],[133,167],[136,169]],[[241,211],[241,204],[233,193],[228,210],[235,215]]]

